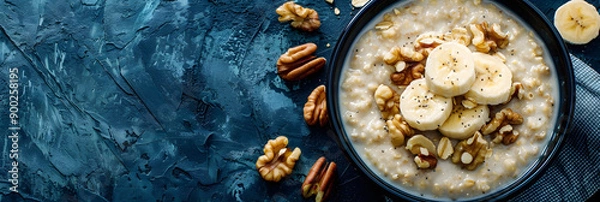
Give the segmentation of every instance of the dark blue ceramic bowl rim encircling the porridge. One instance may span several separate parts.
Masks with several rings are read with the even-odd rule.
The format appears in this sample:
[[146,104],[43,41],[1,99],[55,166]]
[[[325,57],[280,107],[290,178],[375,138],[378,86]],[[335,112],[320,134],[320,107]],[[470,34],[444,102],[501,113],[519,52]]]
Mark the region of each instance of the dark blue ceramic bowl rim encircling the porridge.
[[[348,26],[343,30],[330,58],[330,67],[328,68],[327,107],[329,108],[329,117],[331,117],[333,128],[339,138],[339,144],[357,168],[381,188],[388,191],[391,194],[391,197],[397,197],[404,200],[430,200],[422,198],[419,195],[410,194],[396,185],[386,182],[382,176],[379,176],[367,166],[365,160],[359,157],[357,151],[352,146],[349,135],[344,129],[340,113],[340,102],[338,101],[341,72],[344,62],[346,61],[346,56],[351,50],[355,39],[360,37],[359,34],[365,26],[369,24],[371,19],[378,16],[380,12],[386,10],[388,7],[398,5],[398,3],[402,2],[403,1],[397,0],[372,0],[362,8],[356,16],[354,16]],[[549,145],[542,151],[542,155],[533,163],[533,166],[525,171],[525,173],[521,175],[522,177],[513,181],[511,184],[484,195],[467,199],[472,201],[506,199],[518,194],[540,177],[554,156],[557,155],[563,139],[568,134],[574,111],[573,108],[575,106],[575,79],[573,77],[571,60],[562,38],[560,38],[560,35],[552,23],[545,18],[543,13],[526,0],[503,0],[494,1],[494,3],[499,5],[501,9],[508,11],[508,13],[518,16],[527,26],[533,29],[548,48],[551,61],[554,63],[555,72],[557,73],[559,80],[559,97],[556,102],[556,104],[559,105],[557,111],[559,114],[554,123],[554,130],[551,134],[552,136]]]

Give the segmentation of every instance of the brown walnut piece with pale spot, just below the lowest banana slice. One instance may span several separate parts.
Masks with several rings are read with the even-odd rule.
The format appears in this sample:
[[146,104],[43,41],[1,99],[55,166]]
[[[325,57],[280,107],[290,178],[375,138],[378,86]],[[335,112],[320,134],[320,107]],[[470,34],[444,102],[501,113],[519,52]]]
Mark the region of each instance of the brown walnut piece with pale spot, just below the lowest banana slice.
[[473,137],[460,141],[454,148],[452,163],[459,164],[467,170],[475,170],[485,161],[488,154],[488,143],[479,131]]

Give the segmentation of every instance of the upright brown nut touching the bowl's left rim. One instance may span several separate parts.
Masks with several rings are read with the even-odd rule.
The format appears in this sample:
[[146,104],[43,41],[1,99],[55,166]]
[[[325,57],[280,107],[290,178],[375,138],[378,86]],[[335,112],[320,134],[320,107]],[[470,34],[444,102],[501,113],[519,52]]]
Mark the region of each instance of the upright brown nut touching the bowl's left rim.
[[306,104],[304,104],[304,120],[311,126],[317,123],[320,126],[325,126],[328,119],[325,85],[320,85],[310,93]]

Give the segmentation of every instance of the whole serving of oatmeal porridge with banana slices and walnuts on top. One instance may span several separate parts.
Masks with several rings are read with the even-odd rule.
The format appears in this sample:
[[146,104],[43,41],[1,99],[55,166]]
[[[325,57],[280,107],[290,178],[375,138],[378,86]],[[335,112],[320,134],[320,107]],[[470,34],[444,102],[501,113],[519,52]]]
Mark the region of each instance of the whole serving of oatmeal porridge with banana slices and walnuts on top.
[[385,180],[471,198],[521,176],[556,121],[556,73],[537,36],[487,1],[409,1],[361,32],[342,70],[353,147]]

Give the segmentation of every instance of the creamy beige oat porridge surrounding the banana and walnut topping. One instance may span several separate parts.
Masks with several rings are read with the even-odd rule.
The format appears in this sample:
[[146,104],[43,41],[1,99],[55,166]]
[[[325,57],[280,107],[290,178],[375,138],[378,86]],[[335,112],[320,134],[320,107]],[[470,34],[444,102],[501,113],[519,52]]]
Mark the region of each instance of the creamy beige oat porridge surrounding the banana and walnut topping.
[[[556,121],[557,79],[552,63],[539,40],[529,28],[520,24],[495,5],[473,0],[412,1],[399,4],[375,18],[363,30],[349,53],[340,87],[340,107],[345,130],[362,159],[384,176],[389,183],[403,190],[430,198],[471,198],[494,192],[522,175],[544,150]],[[401,86],[390,81],[396,67],[383,57],[394,46],[413,47],[423,33],[446,33],[457,27],[487,22],[497,23],[509,33],[509,44],[498,53],[513,74],[513,82],[521,82],[519,98],[505,105],[490,106],[490,116],[510,107],[521,114],[524,122],[514,126],[520,133],[510,145],[492,143],[485,163],[473,171],[462,169],[452,161],[438,158],[435,169],[418,169],[414,155],[403,147],[394,147],[386,130],[385,120],[374,101],[373,93],[380,84],[402,93]],[[382,27],[376,28],[380,23]],[[469,33],[470,34],[470,33]],[[473,45],[468,46],[477,52]],[[438,131],[416,131],[425,134],[437,146],[443,137]],[[408,138],[408,137],[407,137]],[[451,139],[455,146],[459,140]]]

